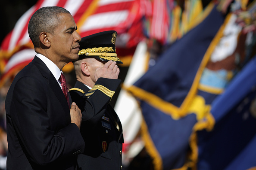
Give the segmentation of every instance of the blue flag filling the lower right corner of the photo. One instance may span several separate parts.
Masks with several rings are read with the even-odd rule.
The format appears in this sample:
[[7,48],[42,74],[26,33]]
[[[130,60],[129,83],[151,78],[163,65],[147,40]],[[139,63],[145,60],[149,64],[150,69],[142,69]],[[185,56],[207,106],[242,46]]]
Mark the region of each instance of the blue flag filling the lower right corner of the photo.
[[211,114],[212,131],[197,131],[197,170],[256,167],[256,56],[215,98]]

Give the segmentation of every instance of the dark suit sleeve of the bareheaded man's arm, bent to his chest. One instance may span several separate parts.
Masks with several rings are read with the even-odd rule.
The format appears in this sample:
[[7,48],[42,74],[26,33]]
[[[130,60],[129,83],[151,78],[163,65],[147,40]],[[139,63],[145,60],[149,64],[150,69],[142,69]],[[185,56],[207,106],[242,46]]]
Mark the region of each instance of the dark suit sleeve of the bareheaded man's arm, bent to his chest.
[[59,105],[56,108],[49,107],[49,102],[53,102],[49,101],[48,94],[51,92],[46,91],[44,86],[30,77],[19,79],[11,103],[12,121],[19,143],[27,157],[41,165],[72,156],[75,151],[84,147],[75,124],[69,123],[56,131],[51,130],[51,110],[56,115],[64,113],[63,108],[58,108]]

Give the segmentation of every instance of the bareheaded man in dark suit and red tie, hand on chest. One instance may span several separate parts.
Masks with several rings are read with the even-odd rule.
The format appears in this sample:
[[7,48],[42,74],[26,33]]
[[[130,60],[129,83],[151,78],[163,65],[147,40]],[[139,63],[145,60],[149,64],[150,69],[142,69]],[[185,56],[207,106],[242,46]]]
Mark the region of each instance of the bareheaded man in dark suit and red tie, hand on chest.
[[78,59],[76,29],[72,15],[56,6],[38,9],[29,21],[37,55],[16,75],[6,96],[8,170],[76,168],[84,149],[81,110],[69,99],[61,76],[62,68]]

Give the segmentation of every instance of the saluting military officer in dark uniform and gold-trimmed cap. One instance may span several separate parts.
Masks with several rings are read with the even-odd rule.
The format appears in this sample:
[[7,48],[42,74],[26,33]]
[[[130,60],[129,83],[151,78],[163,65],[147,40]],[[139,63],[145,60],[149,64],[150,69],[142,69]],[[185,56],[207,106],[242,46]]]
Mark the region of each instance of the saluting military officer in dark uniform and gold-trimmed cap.
[[104,31],[79,42],[79,59],[74,61],[77,82],[69,90],[82,112],[85,149],[78,155],[79,170],[122,169],[122,125],[109,104],[121,82],[116,36],[116,31]]

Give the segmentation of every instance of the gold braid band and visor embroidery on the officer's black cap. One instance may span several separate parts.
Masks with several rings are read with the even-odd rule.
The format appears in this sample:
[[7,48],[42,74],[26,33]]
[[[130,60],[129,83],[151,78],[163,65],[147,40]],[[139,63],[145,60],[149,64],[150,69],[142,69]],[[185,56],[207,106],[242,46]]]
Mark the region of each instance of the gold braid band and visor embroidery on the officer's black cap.
[[[86,56],[98,56],[99,58],[103,58],[105,60],[112,61],[121,61],[115,52],[113,47],[98,47],[92,49],[82,49],[78,52],[78,55],[86,55]],[[121,61],[122,62],[122,61]]]

